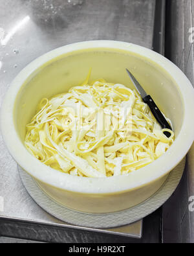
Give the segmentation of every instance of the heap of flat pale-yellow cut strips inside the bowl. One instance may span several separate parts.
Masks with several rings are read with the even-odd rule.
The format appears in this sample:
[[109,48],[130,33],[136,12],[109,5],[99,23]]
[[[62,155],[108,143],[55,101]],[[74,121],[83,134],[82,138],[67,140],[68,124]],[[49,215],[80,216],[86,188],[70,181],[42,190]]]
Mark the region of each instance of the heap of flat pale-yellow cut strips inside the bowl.
[[103,79],[89,84],[90,73],[81,86],[41,100],[27,124],[29,152],[53,169],[83,177],[126,175],[162,156],[174,133],[161,129],[135,90]]

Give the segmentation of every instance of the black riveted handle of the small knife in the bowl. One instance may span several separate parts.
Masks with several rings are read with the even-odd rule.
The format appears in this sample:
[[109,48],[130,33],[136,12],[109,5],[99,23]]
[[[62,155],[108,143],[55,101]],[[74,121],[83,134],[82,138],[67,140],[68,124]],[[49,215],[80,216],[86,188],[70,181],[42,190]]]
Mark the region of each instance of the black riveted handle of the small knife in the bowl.
[[[159,122],[162,129],[166,128],[172,130],[169,123],[166,121],[164,115],[162,115],[161,111],[159,110],[158,106],[155,104],[154,100],[151,98],[150,95],[147,95],[143,98],[144,102],[149,106],[151,112],[153,113],[155,119]],[[166,137],[170,137],[171,134],[169,132],[164,132]]]

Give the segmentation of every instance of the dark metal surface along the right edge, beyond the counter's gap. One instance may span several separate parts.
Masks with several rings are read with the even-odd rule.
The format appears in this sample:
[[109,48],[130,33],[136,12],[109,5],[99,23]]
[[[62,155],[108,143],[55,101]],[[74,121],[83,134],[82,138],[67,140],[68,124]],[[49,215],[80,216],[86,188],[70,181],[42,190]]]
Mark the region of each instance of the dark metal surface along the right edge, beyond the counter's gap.
[[[188,76],[194,86],[194,0],[167,2],[166,56]],[[193,196],[194,144],[189,150],[180,185],[162,207],[164,242],[194,242],[194,211],[189,210]]]

